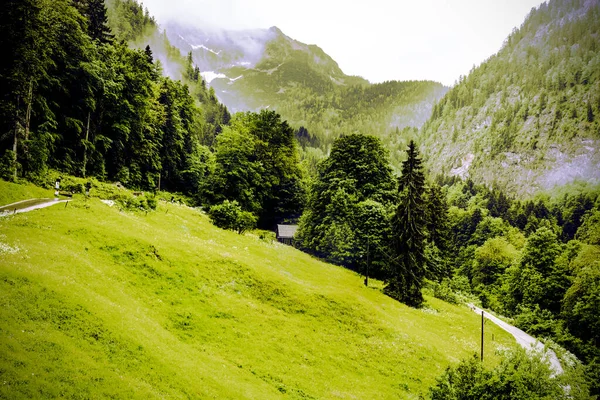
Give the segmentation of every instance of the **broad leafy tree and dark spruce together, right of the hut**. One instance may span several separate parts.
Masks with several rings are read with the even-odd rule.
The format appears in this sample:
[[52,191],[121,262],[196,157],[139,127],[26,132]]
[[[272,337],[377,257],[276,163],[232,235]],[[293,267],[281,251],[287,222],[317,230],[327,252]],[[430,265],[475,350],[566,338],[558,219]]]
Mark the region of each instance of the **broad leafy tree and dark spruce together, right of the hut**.
[[447,206],[437,185],[426,185],[416,144],[408,145],[396,178],[381,141],[373,136],[337,139],[319,165],[298,246],[330,262],[385,279],[386,293],[406,304],[423,303],[425,278],[447,274]]

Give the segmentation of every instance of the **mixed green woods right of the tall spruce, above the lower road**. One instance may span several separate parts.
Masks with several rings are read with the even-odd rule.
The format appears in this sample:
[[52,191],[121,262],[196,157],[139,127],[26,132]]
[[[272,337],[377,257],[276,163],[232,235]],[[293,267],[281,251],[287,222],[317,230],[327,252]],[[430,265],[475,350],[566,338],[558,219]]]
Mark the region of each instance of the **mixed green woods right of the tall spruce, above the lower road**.
[[[594,383],[600,376],[600,351],[597,339],[589,336],[597,310],[588,294],[595,290],[589,271],[600,247],[587,244],[595,243],[597,190],[583,185],[527,201],[507,197],[506,209],[498,207],[498,199],[505,197],[499,189],[452,178],[437,181],[452,204],[448,261],[455,276],[466,280],[465,292],[476,295],[483,307],[513,317],[530,334],[552,338],[575,353],[587,364],[592,393],[600,393]],[[587,243],[570,240],[573,236]],[[434,294],[454,301],[447,290],[451,282],[434,286]],[[578,314],[583,309],[589,313]],[[586,322],[577,322],[580,318]]]

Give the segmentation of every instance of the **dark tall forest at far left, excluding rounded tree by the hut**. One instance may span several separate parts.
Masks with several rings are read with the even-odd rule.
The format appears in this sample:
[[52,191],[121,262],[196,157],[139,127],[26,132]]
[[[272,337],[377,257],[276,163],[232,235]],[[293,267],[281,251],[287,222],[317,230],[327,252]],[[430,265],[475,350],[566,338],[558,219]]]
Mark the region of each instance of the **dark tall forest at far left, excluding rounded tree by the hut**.
[[[197,195],[210,173],[198,165],[202,142],[228,122],[228,112],[197,76],[180,76],[189,86],[161,77],[150,46],[134,50],[114,41],[109,24],[125,40],[158,27],[136,1],[108,5],[108,11],[101,0],[6,5],[0,36],[15,57],[0,63],[7,88],[0,130],[9,133],[0,137],[2,172],[7,177],[19,167],[19,176],[41,180],[50,168]],[[181,55],[172,61],[185,64]]]

